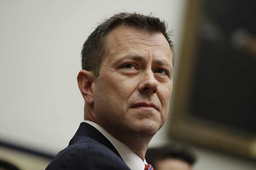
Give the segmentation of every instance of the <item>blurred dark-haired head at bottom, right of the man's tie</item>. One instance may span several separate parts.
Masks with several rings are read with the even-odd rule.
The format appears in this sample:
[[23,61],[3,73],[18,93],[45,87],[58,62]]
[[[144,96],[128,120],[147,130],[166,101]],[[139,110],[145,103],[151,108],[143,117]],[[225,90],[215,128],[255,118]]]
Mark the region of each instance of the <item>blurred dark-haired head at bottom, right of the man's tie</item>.
[[155,170],[191,170],[196,162],[195,153],[189,147],[177,143],[150,148],[145,157]]

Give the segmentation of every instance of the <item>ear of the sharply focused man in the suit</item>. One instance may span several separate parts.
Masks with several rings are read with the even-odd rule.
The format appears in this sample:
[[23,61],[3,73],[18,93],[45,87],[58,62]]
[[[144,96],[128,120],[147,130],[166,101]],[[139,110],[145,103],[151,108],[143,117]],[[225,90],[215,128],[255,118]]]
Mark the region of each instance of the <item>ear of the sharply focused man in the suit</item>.
[[96,77],[92,71],[81,70],[77,75],[78,87],[88,104],[93,104],[92,84],[96,82]]

